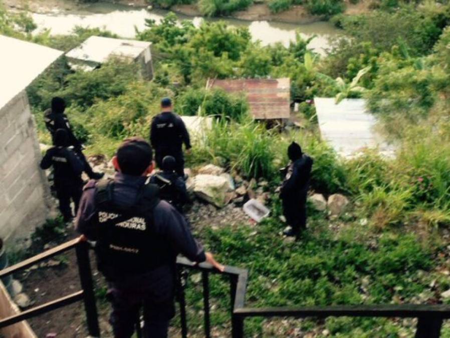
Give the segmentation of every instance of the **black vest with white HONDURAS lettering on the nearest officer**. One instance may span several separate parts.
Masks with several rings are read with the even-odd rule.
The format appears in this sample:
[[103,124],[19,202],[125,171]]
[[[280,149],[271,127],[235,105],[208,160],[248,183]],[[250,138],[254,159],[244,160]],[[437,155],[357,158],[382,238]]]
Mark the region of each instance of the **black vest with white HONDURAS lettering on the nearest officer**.
[[127,208],[114,203],[113,189],[113,180],[99,181],[96,186],[99,270],[107,279],[118,280],[172,264],[170,245],[153,224],[158,188],[144,184],[137,203]]

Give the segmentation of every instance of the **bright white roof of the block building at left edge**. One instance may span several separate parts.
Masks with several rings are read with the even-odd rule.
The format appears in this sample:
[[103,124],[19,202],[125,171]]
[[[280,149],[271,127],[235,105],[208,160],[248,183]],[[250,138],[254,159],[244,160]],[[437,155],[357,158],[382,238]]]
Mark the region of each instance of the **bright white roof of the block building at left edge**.
[[63,52],[0,35],[0,108],[23,91]]

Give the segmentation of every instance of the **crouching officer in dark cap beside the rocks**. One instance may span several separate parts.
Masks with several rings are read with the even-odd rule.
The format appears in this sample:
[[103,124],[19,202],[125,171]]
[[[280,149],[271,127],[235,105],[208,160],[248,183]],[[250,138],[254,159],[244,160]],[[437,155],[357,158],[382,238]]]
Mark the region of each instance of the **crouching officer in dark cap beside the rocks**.
[[175,173],[175,159],[166,156],[162,159],[162,171],[150,178],[150,183],[159,187],[159,198],[172,204],[179,212],[188,201],[186,183]]

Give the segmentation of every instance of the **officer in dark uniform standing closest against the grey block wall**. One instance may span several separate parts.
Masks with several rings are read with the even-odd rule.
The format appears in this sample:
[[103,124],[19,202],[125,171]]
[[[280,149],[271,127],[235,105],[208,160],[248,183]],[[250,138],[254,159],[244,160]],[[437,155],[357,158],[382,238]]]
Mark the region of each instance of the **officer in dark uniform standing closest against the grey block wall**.
[[70,146],[69,135],[65,129],[55,132],[55,147],[47,150],[41,161],[41,168],[48,169],[53,166],[54,185],[59,200],[59,208],[64,221],[73,218],[70,200],[75,204],[75,213],[78,210],[81,194],[83,192],[83,180],[81,173],[84,163]]

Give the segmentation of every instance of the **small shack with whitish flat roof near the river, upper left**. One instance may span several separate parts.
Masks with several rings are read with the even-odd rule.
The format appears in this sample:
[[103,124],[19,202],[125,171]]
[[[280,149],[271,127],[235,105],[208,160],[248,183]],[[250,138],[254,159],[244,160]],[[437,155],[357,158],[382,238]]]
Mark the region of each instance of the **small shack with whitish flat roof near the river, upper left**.
[[153,78],[151,43],[92,36],[66,54],[69,65],[75,69],[91,71],[109,58],[123,58],[140,64],[142,77]]

